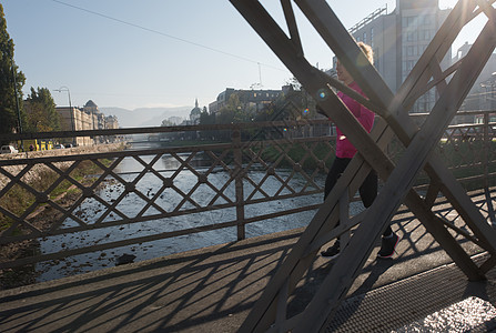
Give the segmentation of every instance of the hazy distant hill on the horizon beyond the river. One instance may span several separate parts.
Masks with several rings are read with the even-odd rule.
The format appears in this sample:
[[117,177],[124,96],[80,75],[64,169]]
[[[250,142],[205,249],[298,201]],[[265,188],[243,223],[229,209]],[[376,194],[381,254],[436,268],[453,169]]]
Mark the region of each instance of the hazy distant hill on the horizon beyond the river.
[[162,120],[170,117],[188,119],[193,107],[180,108],[139,108],[128,110],[123,108],[99,108],[105,115],[115,115],[121,128],[160,127]]

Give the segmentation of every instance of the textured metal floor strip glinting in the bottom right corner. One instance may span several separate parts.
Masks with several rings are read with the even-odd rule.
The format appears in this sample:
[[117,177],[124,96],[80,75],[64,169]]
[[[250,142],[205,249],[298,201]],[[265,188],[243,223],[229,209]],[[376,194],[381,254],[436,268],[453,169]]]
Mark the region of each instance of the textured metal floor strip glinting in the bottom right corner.
[[487,281],[468,282],[454,264],[350,297],[328,325],[328,332],[490,331],[496,331],[496,270]]

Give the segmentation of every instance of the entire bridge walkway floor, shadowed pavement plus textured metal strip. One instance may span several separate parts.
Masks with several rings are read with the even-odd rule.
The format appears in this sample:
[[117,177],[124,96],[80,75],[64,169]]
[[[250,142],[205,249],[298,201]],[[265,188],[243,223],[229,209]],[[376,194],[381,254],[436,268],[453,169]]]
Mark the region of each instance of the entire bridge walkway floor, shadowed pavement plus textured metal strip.
[[[496,305],[495,269],[485,282],[467,282],[416,220],[402,219],[393,229],[402,236],[394,260],[377,261],[378,248],[372,253],[330,331],[409,332],[407,325],[424,325],[435,312],[446,315],[453,304]],[[1,291],[0,332],[236,332],[301,232]],[[306,305],[332,264],[316,259],[289,315]],[[490,325],[485,317],[475,332]]]

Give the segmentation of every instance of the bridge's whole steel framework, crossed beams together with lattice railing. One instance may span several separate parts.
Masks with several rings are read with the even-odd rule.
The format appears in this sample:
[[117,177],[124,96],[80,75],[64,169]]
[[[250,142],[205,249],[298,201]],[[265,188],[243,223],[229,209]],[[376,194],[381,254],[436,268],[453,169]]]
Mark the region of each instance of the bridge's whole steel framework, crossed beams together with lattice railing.
[[[58,157],[27,153],[16,159],[2,159],[1,246],[139,222],[160,220],[166,224],[169,219],[175,216],[191,215],[199,219],[206,212],[223,210],[230,211],[222,214],[226,220],[155,234],[126,235],[121,240],[61,249],[53,253],[2,258],[0,269],[223,228],[235,230],[236,239],[241,240],[245,238],[245,226],[250,223],[281,216],[291,219],[297,213],[315,211],[240,331],[316,332],[325,330],[371,255],[375,242],[398,209],[406,205],[468,280],[484,280],[485,274],[496,265],[492,195],[495,175],[494,124],[489,122],[490,111],[465,112],[480,115],[484,123],[449,128],[448,124],[457,115],[495,49],[494,1],[459,1],[396,93],[387,88],[368,63],[326,1],[281,0],[289,34],[259,1],[231,2],[358,150],[324,204],[314,201],[314,204],[298,205],[297,202],[302,198],[320,195],[323,190],[320,176],[322,179],[330,167],[328,161],[334,154],[333,144],[331,137],[314,133],[318,132],[318,127],[325,125],[325,120],[82,131],[78,132],[78,137],[174,131],[192,131],[201,135],[202,132],[223,131],[229,133],[231,141]],[[308,63],[304,57],[293,6],[300,8],[367,99]],[[487,23],[472,49],[466,57],[443,70],[441,60],[463,27],[477,16],[486,16]],[[365,65],[358,67],[357,63]],[[422,120],[416,119],[419,115],[409,114],[413,103],[434,88],[438,92],[434,108],[426,110],[428,112],[422,115]],[[361,127],[333,89],[346,92],[378,115],[372,133]],[[74,133],[24,133],[9,135],[9,139],[71,135]],[[294,149],[302,153],[294,154]],[[200,154],[209,162],[198,169],[193,161]],[[158,170],[155,163],[164,157],[175,160],[176,165],[170,170]],[[141,169],[131,179],[124,179],[118,171],[119,165],[130,159]],[[81,178],[78,170],[88,163],[97,169],[94,176]],[[350,204],[371,169],[382,180],[379,194],[372,206],[352,214]],[[262,171],[263,175],[254,176],[253,170]],[[53,180],[40,185],[36,181],[36,174],[40,172],[53,176]],[[213,181],[219,172],[225,174],[221,184]],[[179,179],[184,174],[195,180],[188,186],[180,186]],[[142,185],[142,180],[150,175],[159,184],[152,194]],[[112,200],[100,194],[100,189],[109,181],[120,184]],[[277,184],[275,188],[274,183]],[[63,184],[70,188],[72,200],[69,202],[60,201],[58,189]],[[473,201],[469,195],[472,191],[484,193],[486,200]],[[20,192],[27,200],[20,208],[12,209],[9,200],[14,192]],[[296,203],[285,210],[276,209],[277,202],[285,200]],[[434,210],[439,200],[451,205],[449,213]],[[131,201],[139,202],[140,210],[126,211],[125,206]],[[81,219],[78,213],[79,208],[88,202],[103,208],[91,221]],[[261,209],[262,204],[264,209]],[[275,209],[267,210],[267,204]],[[51,223],[36,223],[34,216],[40,210],[51,212]],[[338,221],[340,225],[336,226]],[[340,235],[347,235],[347,246],[330,269],[306,309],[289,317],[287,303],[295,286],[311,268],[320,249]],[[486,251],[487,260],[483,263],[474,262],[460,245],[459,238]]]

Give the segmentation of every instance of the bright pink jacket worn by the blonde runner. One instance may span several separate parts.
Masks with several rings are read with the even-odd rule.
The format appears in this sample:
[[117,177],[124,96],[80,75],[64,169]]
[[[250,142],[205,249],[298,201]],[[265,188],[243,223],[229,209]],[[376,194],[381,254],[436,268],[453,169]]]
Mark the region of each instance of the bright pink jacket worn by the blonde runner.
[[[352,82],[348,85],[351,89],[357,91],[362,95],[365,95],[360,89],[358,84],[356,82]],[[351,99],[346,94],[342,93],[341,91],[337,92],[337,97],[343,101],[343,103],[352,111],[352,113],[356,117],[356,119],[360,121],[360,123],[364,127],[364,129],[367,132],[371,132],[372,125],[374,124],[374,112],[368,110],[367,108],[363,107],[355,100]],[[355,155],[356,149],[353,147],[353,144],[350,142],[350,140],[343,134],[343,132],[340,129],[336,129],[337,137],[336,137],[336,157],[337,158],[346,158],[351,159]]]

